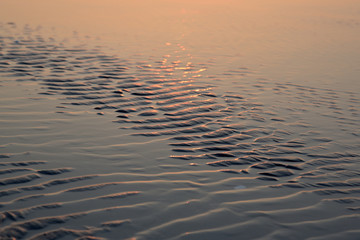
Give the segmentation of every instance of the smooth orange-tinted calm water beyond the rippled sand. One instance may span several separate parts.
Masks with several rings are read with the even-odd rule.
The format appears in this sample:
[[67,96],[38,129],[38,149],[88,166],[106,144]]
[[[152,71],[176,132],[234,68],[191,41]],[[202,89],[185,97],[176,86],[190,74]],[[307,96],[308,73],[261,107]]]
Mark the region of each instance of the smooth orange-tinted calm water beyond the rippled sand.
[[[1,1],[1,21],[53,28],[57,40],[100,38],[128,59],[181,44],[220,70],[251,67],[274,81],[359,90],[359,3],[338,1]],[[22,25],[20,25],[22,27]],[[187,60],[187,59],[184,59]]]

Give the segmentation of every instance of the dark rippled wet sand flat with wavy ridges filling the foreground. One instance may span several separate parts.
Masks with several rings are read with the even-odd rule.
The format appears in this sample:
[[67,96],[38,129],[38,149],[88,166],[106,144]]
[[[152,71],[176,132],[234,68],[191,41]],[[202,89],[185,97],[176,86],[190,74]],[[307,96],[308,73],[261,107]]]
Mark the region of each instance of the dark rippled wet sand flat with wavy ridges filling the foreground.
[[359,239],[358,93],[2,31],[1,239]]

